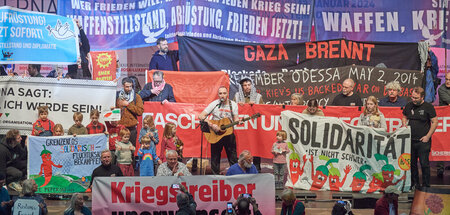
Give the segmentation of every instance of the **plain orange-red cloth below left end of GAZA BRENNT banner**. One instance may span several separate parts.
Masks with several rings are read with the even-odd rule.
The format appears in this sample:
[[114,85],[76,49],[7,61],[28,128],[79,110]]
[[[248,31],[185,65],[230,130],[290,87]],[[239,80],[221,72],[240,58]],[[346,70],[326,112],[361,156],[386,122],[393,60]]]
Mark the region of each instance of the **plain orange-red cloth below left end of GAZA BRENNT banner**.
[[[146,84],[152,82],[154,70],[147,70]],[[173,87],[175,100],[180,103],[209,104],[217,97],[219,87],[230,86],[226,72],[164,71],[164,81]]]

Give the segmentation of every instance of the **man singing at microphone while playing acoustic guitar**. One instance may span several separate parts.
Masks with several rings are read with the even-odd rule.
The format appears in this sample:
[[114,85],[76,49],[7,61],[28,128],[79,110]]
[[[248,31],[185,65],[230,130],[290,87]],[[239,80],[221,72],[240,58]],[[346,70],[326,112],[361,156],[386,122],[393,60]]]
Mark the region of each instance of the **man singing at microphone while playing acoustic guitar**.
[[[198,116],[200,120],[208,122],[211,132],[219,132],[220,126],[206,119],[208,114],[211,114],[211,120],[229,118],[233,122],[239,121],[238,106],[236,102],[228,99],[228,90],[226,87],[221,86],[219,88],[219,99],[211,102]],[[222,137],[217,143],[211,144],[211,169],[215,175],[220,174],[220,154],[222,153],[222,148],[225,148],[230,166],[237,163],[236,137],[234,136],[234,132]]]

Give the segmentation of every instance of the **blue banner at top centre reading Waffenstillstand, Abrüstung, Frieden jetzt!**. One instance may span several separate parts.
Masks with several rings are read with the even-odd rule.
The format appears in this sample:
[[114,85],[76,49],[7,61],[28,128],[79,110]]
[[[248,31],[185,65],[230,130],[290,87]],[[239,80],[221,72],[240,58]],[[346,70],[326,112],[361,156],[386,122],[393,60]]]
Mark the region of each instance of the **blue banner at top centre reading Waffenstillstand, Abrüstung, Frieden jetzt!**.
[[309,41],[312,0],[71,0],[58,14],[81,21],[91,50],[156,45],[176,35],[236,42]]

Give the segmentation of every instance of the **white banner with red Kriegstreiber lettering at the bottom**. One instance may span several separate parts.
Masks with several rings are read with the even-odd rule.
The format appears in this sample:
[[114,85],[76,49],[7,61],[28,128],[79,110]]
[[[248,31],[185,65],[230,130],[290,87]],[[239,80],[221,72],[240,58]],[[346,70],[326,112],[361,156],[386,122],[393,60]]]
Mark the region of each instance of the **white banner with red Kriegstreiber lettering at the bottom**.
[[272,174],[234,176],[96,177],[92,188],[93,214],[175,214],[177,189],[184,185],[197,203],[197,214],[224,214],[227,202],[251,194],[264,214],[275,215]]

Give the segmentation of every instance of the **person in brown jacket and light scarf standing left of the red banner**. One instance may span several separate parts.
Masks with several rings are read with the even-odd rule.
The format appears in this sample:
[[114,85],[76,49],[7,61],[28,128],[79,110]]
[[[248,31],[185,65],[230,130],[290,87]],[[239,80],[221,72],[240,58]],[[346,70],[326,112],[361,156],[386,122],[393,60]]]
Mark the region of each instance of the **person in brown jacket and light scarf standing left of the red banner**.
[[116,107],[120,108],[122,116],[119,124],[130,130],[130,141],[136,147],[138,116],[144,112],[144,103],[133,89],[133,81],[126,77],[122,80],[123,89],[116,96]]

